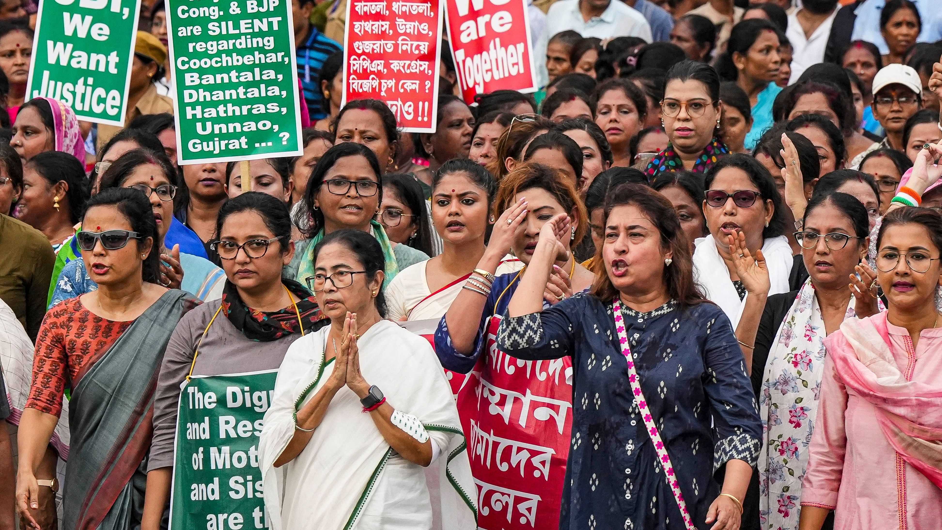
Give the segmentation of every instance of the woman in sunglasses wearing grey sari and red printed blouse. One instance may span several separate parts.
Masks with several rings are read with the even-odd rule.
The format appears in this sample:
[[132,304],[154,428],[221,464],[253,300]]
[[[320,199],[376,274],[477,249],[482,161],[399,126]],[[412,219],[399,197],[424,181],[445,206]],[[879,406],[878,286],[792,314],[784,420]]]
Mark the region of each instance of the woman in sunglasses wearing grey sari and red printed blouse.
[[[39,528],[41,489],[62,487],[61,528],[125,530],[140,524],[154,380],[180,318],[199,303],[160,277],[157,225],[140,191],[92,197],[76,235],[97,289],[54,306],[42,323],[33,384],[19,430],[16,503]],[[69,393],[65,481],[38,472]],[[116,399],[115,396],[121,396]],[[46,528],[48,526],[43,526]]]

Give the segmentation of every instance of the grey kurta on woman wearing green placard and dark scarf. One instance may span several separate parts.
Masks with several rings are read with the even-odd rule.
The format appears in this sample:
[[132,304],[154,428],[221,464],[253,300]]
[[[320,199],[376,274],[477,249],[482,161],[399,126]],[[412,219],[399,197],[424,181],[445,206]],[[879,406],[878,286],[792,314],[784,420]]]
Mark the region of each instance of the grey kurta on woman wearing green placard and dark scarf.
[[[220,303],[221,300],[213,300],[190,311],[171,335],[157,380],[154,441],[151,442],[147,471],[173,466],[173,438],[176,433],[180,384],[189,374],[193,352],[203,336],[203,329],[206,329]],[[305,333],[309,331],[314,329],[304,330]],[[277,370],[288,346],[299,338],[300,333],[292,333],[270,343],[251,341],[233,326],[225,314],[219,312],[216,321],[203,337],[193,375],[220,376]]]

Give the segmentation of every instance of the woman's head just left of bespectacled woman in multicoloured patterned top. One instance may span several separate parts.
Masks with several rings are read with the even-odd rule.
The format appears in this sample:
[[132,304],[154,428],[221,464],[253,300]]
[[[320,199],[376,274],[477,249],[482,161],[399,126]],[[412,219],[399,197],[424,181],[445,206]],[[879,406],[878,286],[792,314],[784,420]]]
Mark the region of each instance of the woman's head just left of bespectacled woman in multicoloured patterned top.
[[614,156],[612,166],[631,166],[628,144],[642,130],[647,100],[641,88],[625,79],[603,81],[592,95],[595,124],[605,131]]

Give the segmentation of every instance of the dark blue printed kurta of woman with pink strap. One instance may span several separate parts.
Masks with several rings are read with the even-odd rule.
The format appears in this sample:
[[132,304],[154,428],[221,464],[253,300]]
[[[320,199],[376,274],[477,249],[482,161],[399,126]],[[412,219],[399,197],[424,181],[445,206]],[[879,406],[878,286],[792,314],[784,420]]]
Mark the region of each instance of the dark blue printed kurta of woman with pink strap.
[[[650,313],[623,305],[623,314],[642,392],[690,516],[706,530],[720,493],[717,470],[731,458],[755,466],[762,440],[736,336],[711,303],[685,310],[671,301]],[[684,529],[635,404],[610,303],[577,294],[542,313],[504,318],[497,344],[520,359],[573,357],[560,530]]]

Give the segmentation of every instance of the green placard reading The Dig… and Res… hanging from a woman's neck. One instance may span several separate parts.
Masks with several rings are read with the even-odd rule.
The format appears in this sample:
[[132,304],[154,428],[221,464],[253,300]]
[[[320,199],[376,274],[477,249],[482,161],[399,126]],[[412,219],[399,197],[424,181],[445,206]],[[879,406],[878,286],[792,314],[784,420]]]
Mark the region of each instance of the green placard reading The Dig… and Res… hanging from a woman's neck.
[[267,528],[258,440],[277,371],[192,377],[180,393],[171,530]]

